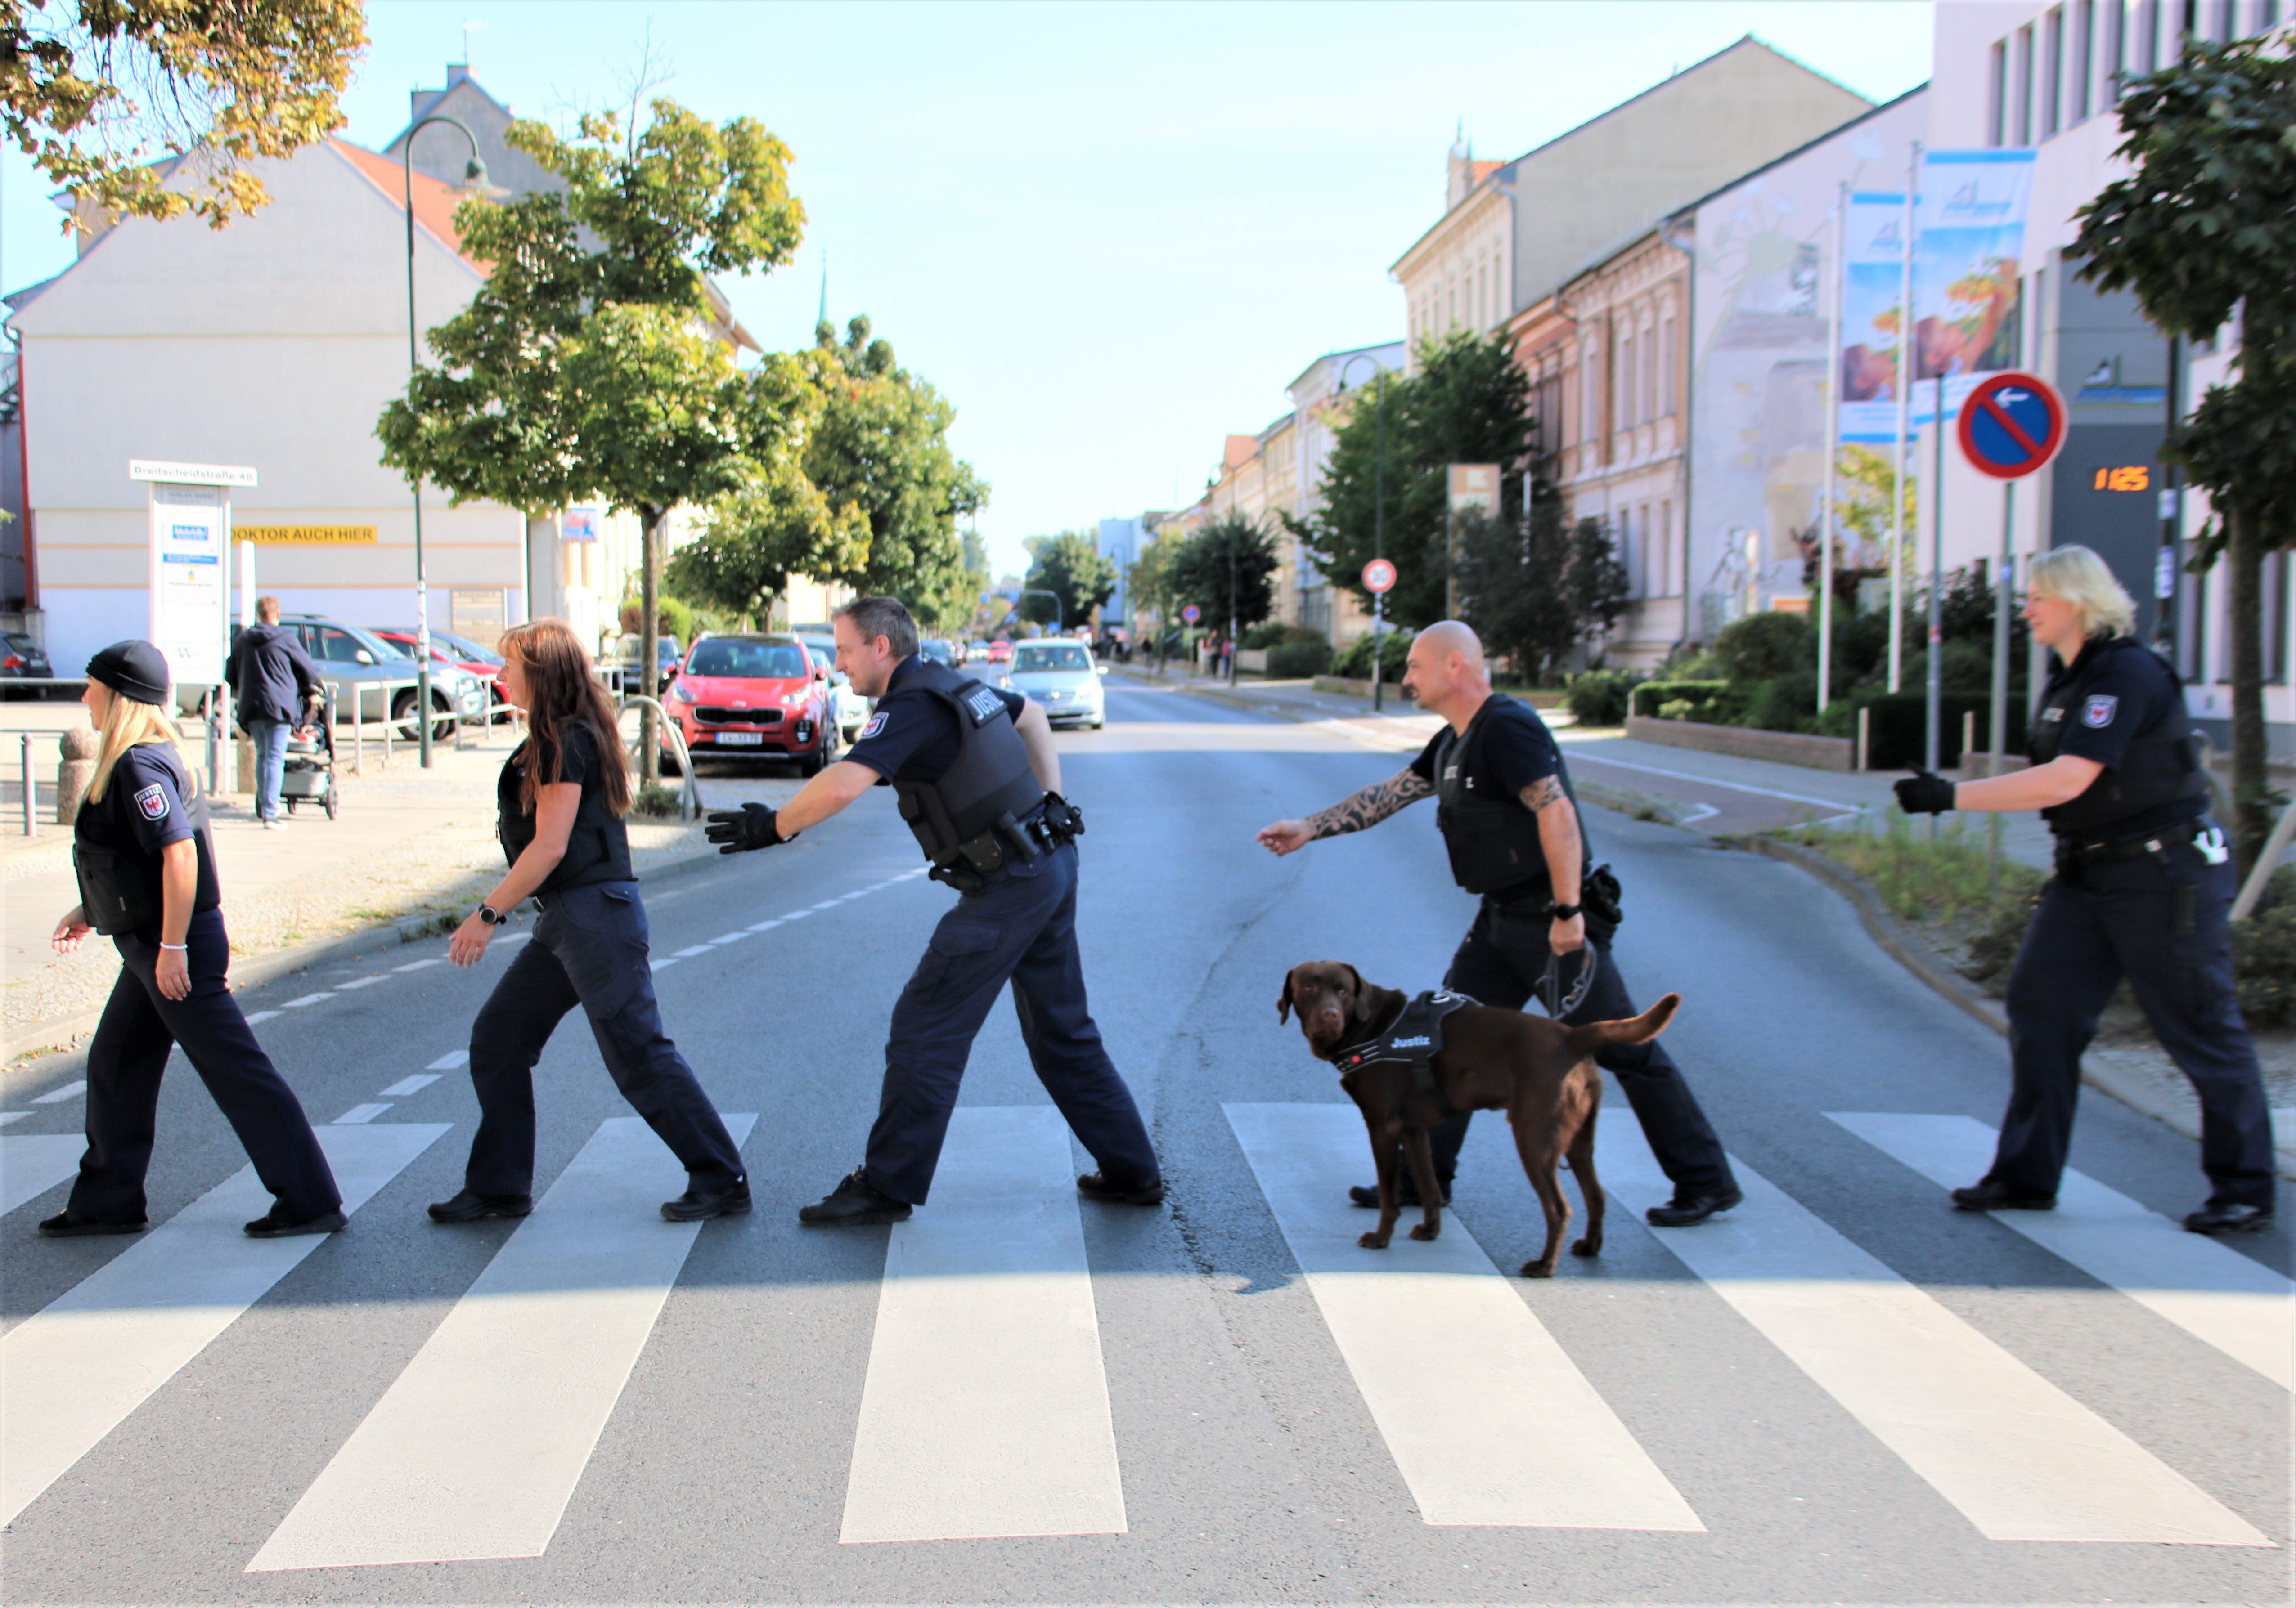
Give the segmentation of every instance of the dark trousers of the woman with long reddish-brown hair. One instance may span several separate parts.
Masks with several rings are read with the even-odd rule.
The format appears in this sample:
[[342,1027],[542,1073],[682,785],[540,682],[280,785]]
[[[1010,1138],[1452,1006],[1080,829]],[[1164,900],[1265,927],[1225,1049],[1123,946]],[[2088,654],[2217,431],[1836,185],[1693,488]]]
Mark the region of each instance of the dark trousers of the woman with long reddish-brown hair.
[[471,1023],[478,1135],[464,1184],[480,1195],[535,1193],[535,1062],[576,1005],[622,1099],[684,1163],[693,1186],[721,1191],[746,1179],[716,1106],[661,1032],[638,885],[592,883],[544,899],[533,943]]

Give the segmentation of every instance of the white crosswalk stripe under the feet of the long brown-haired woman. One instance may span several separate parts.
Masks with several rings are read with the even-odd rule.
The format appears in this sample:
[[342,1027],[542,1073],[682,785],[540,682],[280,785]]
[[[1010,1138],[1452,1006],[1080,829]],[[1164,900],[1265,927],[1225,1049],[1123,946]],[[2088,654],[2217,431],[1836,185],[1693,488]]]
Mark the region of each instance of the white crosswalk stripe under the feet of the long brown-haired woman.
[[540,1558],[700,1234],[661,1220],[684,1186],[643,1117],[599,1124],[248,1574]]

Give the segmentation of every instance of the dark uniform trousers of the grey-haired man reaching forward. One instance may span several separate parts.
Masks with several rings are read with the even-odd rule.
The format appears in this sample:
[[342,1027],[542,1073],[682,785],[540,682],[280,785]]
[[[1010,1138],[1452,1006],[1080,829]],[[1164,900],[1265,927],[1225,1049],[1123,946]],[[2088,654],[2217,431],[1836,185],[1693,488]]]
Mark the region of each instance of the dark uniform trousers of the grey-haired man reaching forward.
[[1029,1064],[1100,1172],[1123,1186],[1159,1177],[1132,1090],[1100,1046],[1084,1002],[1070,842],[996,872],[932,929],[932,945],[893,1005],[884,1094],[868,1131],[870,1186],[925,1204],[964,1062],[1006,982]]

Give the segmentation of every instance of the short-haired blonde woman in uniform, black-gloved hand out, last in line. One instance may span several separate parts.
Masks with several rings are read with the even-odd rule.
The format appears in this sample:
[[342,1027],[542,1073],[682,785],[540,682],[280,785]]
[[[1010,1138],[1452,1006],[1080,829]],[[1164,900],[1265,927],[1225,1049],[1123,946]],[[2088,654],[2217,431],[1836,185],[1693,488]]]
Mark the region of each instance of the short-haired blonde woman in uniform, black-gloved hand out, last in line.
[[1919,771],[1896,785],[1908,814],[2039,810],[2057,835],[2057,874],[2009,968],[2009,1113],[1993,1165],[1954,1191],[1954,1207],[2057,1204],[2080,1055],[2126,977],[2200,1094],[2209,1202],[2183,1225],[2268,1227],[2271,1108],[2232,989],[2236,876],[2225,828],[2209,819],[2183,684],[2135,638],[2135,601],[2089,548],[2034,560],[2025,619],[2057,665],[2025,743],[2032,768],[1961,785]]

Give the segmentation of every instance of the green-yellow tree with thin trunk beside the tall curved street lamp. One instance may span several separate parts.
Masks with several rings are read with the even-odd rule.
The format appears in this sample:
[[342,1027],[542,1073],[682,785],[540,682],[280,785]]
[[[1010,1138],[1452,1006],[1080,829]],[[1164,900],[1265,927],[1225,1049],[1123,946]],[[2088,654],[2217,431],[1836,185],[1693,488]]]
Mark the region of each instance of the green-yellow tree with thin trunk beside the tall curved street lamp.
[[[709,124],[657,99],[652,122],[581,119],[572,140],[514,122],[505,140],[565,179],[505,206],[464,202],[461,248],[494,264],[471,303],[432,330],[383,408],[383,461],[455,502],[544,512],[597,495],[638,514],[641,665],[654,663],[661,525],[788,473],[813,395],[797,358],[744,372],[707,273],[785,264],[804,206],[790,151],[765,124]],[[659,773],[647,709],[638,764]]]

